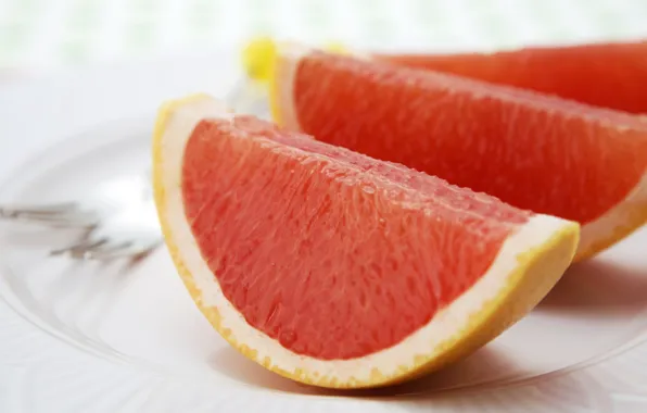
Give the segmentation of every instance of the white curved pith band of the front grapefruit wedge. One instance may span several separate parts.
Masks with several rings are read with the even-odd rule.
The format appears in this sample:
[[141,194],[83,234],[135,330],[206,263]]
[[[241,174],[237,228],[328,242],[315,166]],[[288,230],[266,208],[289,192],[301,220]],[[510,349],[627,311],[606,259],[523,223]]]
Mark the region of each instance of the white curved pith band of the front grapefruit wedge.
[[409,337],[389,349],[353,360],[322,361],[300,355],[283,348],[264,333],[250,326],[225,298],[214,274],[201,252],[187,223],[181,196],[183,149],[196,123],[202,118],[230,120],[218,103],[202,98],[188,102],[169,114],[162,138],[161,172],[165,196],[165,216],[169,236],[179,247],[179,254],[200,291],[202,305],[215,306],[220,314],[220,327],[231,331],[231,338],[257,351],[256,359],[271,359],[271,365],[287,372],[297,370],[337,377],[339,380],[368,380],[375,368],[393,375],[403,366],[413,366],[416,355],[434,354],[437,346],[459,334],[483,304],[495,299],[506,288],[508,277],[518,266],[518,254],[546,243],[566,226],[567,221],[535,215],[505,241],[491,268],[461,297],[436,313],[433,320]]

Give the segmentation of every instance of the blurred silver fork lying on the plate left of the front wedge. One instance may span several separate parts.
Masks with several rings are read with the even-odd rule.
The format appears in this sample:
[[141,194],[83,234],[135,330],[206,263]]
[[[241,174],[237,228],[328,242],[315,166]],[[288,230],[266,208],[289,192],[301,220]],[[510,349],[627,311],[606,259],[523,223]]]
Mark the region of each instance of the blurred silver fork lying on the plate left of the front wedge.
[[50,255],[81,260],[138,259],[162,243],[162,233],[150,182],[129,177],[129,192],[135,189],[135,193],[124,196],[118,190],[124,187],[123,180],[99,185],[99,192],[85,201],[0,205],[0,218],[83,230],[80,239],[52,248]]

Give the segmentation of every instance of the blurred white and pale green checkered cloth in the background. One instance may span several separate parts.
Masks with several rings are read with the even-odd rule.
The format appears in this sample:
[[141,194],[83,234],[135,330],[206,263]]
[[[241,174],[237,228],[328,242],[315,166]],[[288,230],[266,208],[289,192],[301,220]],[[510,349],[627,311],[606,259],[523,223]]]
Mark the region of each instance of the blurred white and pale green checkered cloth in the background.
[[215,50],[257,35],[468,50],[647,37],[647,0],[0,0],[0,68]]

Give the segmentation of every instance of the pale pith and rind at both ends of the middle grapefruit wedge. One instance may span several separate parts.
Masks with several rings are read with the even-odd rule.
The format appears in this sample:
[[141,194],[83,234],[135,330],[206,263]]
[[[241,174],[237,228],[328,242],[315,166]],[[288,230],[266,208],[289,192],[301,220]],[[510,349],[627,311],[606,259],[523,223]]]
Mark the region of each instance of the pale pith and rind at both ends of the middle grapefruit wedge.
[[[291,130],[302,130],[299,124],[299,114],[294,105],[294,78],[299,61],[312,50],[301,48],[299,49],[299,53],[293,51],[283,52],[283,49],[280,50],[281,66],[284,67],[277,75],[284,77],[277,77],[275,80],[279,85],[277,88],[277,102],[275,104],[278,104],[280,108],[281,125]],[[360,55],[358,58],[370,59],[367,55]],[[635,224],[635,220],[632,220],[632,213],[644,209],[645,205],[647,205],[647,171],[621,202],[613,205],[594,221],[581,226],[580,243],[578,245],[575,258],[578,259],[580,254],[587,254],[591,249],[596,249],[596,245],[600,240],[617,238],[614,234],[618,233],[619,228]]]

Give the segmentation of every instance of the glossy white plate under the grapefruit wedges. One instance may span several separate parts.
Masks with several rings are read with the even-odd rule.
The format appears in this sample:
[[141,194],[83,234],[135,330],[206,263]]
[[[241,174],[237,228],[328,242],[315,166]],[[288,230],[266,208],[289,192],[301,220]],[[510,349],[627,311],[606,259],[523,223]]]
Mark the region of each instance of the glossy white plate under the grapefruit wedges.
[[[0,90],[0,201],[74,199],[145,167],[154,112],[223,96],[229,52],[96,67]],[[164,249],[137,266],[46,259],[2,227],[0,412],[645,412],[647,230],[573,266],[464,362],[397,388],[334,393],[266,372],[194,308]],[[38,239],[31,247],[25,242]]]

